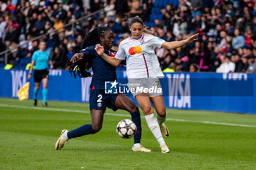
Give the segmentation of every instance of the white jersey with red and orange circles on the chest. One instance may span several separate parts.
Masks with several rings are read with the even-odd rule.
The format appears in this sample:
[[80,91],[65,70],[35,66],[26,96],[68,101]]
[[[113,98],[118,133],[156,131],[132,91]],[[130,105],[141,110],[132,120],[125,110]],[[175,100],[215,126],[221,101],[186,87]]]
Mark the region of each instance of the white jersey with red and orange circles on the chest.
[[154,47],[161,47],[165,40],[149,34],[142,34],[140,39],[130,36],[124,39],[116,53],[116,58],[127,61],[128,78],[164,77],[159,67]]

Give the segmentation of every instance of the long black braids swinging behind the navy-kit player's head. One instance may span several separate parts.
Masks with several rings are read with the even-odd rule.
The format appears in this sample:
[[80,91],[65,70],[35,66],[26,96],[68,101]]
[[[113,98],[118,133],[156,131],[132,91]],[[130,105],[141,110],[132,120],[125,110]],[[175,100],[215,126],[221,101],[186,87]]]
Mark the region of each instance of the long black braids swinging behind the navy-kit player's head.
[[[83,49],[86,47],[97,45],[100,43],[100,36],[105,36],[105,34],[111,31],[110,28],[107,27],[99,27],[94,28],[90,31],[83,39]],[[79,77],[91,77],[91,73],[87,72],[86,69],[89,69],[91,63],[89,62],[89,58],[83,57],[82,60],[72,63],[72,61],[67,61],[66,67],[69,66],[69,72],[74,75],[76,78],[77,75]]]

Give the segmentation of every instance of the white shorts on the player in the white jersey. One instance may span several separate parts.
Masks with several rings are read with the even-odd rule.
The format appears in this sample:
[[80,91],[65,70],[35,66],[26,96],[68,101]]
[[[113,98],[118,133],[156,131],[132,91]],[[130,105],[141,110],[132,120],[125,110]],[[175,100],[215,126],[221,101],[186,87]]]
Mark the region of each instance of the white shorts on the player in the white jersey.
[[140,93],[148,93],[149,97],[162,95],[162,87],[158,78],[128,79],[127,85],[134,97]]

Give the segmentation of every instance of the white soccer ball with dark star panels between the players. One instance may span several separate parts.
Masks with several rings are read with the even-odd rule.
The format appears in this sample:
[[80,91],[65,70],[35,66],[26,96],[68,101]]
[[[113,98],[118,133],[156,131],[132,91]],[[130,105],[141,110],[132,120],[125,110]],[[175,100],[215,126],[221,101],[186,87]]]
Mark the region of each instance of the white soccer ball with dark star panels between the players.
[[116,126],[116,133],[121,138],[129,139],[132,136],[135,136],[136,131],[137,127],[135,123],[133,123],[132,120],[129,119],[121,120]]

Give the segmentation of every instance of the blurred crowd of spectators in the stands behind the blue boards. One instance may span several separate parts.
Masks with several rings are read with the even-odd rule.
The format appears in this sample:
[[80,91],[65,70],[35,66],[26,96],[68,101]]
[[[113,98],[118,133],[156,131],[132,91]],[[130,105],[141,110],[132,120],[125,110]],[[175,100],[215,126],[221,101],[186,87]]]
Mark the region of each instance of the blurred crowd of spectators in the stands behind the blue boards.
[[[28,69],[39,44],[31,39],[45,34],[54,69],[64,69],[66,61],[81,50],[83,36],[91,29],[111,28],[117,47],[129,37],[131,18],[139,15],[154,36],[166,41],[200,34],[197,42],[186,47],[156,49],[164,72],[256,73],[255,5],[254,0],[2,0],[0,52],[11,50],[7,60],[10,68]],[[99,9],[103,11],[90,16]],[[75,22],[86,15],[90,17]],[[67,23],[72,24],[61,28]],[[61,29],[53,32],[57,28]],[[1,55],[0,68],[4,67]]]

